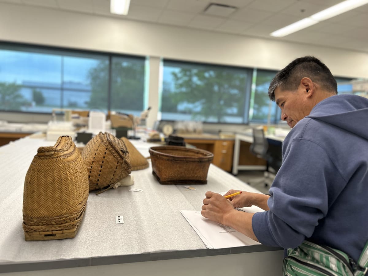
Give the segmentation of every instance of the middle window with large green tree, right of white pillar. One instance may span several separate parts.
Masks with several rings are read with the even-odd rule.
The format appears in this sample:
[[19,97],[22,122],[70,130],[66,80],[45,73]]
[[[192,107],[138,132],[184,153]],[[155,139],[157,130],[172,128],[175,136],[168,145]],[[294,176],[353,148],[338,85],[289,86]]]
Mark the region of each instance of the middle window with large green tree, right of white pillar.
[[163,61],[162,120],[248,123],[252,70]]

